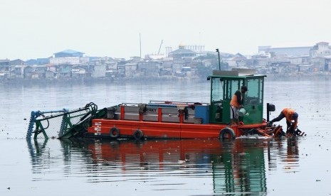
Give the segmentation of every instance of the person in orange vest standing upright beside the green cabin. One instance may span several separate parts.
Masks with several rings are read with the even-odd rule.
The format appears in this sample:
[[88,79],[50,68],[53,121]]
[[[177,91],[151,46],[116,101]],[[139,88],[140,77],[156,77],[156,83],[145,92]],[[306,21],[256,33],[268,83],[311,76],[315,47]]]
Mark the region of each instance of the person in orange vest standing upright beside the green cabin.
[[239,109],[243,107],[243,94],[247,92],[248,89],[246,86],[242,86],[240,90],[237,90],[231,99],[230,102],[230,119],[231,119],[231,125],[238,124],[238,117],[239,117]]

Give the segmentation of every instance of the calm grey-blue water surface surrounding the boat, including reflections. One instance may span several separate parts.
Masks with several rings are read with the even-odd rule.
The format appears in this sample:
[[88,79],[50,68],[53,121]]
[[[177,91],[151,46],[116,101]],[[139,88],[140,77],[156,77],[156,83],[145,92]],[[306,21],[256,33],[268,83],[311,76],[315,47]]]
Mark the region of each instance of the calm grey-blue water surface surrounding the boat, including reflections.
[[206,81],[0,84],[0,195],[331,195],[330,82],[266,81],[265,102],[276,106],[270,117],[296,109],[307,136],[225,143],[25,140],[32,110],[209,102]]

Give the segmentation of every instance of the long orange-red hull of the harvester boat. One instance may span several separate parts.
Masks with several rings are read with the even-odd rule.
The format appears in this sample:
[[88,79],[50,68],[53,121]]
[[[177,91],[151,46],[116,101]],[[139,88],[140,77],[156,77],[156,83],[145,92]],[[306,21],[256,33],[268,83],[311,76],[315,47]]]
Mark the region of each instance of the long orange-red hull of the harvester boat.
[[[135,138],[137,130],[141,131],[143,138],[219,138],[221,130],[229,127],[234,136],[243,135],[243,130],[260,128],[263,124],[249,126],[231,126],[226,124],[184,124],[151,121],[128,121],[113,119],[93,119],[92,126],[88,128],[87,136],[110,138]],[[115,128],[115,129],[114,129]],[[119,133],[111,136],[111,130]]]

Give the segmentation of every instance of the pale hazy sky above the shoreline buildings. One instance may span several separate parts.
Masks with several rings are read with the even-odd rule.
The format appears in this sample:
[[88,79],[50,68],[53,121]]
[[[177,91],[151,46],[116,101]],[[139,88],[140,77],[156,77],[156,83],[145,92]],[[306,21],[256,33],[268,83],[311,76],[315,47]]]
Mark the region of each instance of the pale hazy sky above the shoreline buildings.
[[129,58],[164,46],[257,53],[258,45],[331,42],[330,0],[1,0],[0,59],[72,49]]

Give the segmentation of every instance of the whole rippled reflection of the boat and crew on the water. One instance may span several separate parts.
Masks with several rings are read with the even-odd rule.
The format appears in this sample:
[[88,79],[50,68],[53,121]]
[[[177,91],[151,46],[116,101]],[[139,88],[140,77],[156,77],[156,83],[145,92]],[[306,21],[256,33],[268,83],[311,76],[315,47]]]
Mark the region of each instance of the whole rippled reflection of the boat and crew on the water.
[[[28,148],[32,172],[36,174],[63,173],[59,179],[75,176],[85,183],[135,180],[149,183],[152,190],[181,189],[180,185],[188,183],[174,183],[174,178],[202,178],[211,182],[209,190],[213,194],[265,194],[266,168],[275,170],[280,160],[283,169],[290,171],[298,166],[299,158],[297,138],[243,138],[233,142],[46,140],[28,142]],[[37,176],[33,180],[47,179]]]

